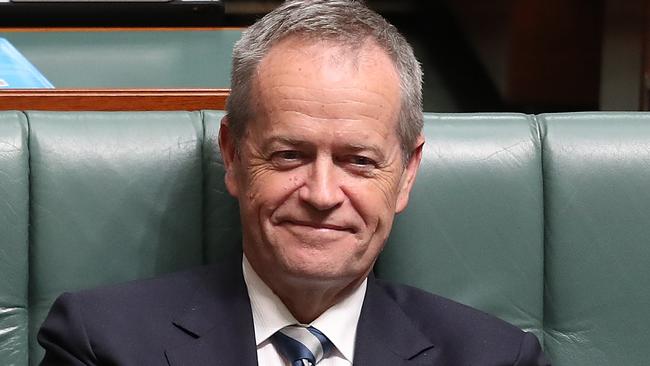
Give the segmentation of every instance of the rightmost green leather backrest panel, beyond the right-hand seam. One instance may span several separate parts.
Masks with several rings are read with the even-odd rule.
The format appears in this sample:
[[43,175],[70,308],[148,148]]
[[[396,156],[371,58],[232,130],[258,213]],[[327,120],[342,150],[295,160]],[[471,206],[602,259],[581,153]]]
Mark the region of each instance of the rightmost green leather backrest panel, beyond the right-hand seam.
[[556,365],[648,365],[650,114],[540,123],[546,350]]

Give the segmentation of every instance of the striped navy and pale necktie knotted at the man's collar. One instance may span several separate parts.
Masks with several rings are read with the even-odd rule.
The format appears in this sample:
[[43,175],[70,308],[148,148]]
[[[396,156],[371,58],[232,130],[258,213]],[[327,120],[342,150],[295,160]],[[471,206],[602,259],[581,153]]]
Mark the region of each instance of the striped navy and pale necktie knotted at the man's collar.
[[291,366],[313,366],[327,357],[334,345],[314,327],[289,325],[271,336],[278,352]]

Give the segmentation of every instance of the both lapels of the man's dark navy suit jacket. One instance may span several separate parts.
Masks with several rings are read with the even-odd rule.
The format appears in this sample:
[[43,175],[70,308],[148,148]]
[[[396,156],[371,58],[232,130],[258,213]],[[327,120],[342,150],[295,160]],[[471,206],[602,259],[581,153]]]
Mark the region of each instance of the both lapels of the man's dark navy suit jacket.
[[[215,268],[174,325],[187,341],[165,351],[170,366],[257,366],[250,301],[241,271],[233,261]],[[355,346],[355,365],[438,365],[434,347],[388,294],[368,278]]]

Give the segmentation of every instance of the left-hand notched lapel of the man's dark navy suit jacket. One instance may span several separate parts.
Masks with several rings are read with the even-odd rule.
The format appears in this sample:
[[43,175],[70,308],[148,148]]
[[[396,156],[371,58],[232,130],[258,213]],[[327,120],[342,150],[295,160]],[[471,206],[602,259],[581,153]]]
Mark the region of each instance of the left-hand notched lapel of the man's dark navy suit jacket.
[[257,349],[241,261],[210,273],[174,319],[187,342],[165,351],[171,366],[257,366]]

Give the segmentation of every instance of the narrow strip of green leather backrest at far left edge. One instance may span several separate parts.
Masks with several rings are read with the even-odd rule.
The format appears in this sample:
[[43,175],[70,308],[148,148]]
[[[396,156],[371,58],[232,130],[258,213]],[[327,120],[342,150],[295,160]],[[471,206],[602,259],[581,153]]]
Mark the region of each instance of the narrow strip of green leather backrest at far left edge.
[[0,364],[27,364],[27,121],[0,113]]

